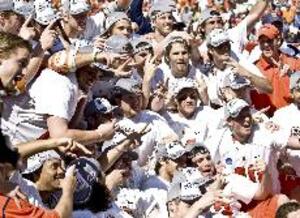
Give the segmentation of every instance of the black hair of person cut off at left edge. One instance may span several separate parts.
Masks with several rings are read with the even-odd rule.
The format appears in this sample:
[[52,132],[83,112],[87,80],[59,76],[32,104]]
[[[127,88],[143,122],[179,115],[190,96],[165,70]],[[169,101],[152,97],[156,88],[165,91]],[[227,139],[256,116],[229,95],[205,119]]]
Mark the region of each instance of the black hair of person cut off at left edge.
[[10,163],[13,167],[17,168],[20,154],[18,150],[11,149],[6,143],[6,139],[0,131],[0,163]]

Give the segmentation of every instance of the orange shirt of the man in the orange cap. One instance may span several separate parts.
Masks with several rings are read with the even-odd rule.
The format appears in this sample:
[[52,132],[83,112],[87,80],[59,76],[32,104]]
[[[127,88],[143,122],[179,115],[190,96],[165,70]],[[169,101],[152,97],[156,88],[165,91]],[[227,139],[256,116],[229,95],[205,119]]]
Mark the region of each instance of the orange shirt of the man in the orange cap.
[[[288,64],[292,72],[300,70],[300,59],[290,57],[286,54],[281,54],[280,60],[282,64]],[[278,108],[284,107],[289,104],[289,76],[280,76],[280,69],[275,65],[269,64],[263,57],[260,57],[260,59],[256,62],[256,66],[272,83],[273,93],[258,94],[257,92],[252,92],[252,102],[256,109],[262,109],[271,106],[269,115],[272,115]]]

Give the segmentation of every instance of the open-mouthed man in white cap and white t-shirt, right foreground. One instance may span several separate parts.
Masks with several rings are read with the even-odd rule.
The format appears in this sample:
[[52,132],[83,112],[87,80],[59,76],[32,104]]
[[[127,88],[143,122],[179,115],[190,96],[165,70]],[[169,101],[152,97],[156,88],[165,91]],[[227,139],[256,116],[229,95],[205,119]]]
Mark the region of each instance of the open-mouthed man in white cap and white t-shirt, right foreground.
[[[270,194],[280,193],[276,151],[289,147],[298,149],[299,138],[290,137],[284,130],[271,132],[264,126],[255,125],[249,104],[241,99],[227,103],[225,119],[228,128],[217,131],[214,138],[207,141],[207,147],[214,161],[221,161],[228,170],[228,181],[231,181],[229,184],[235,197],[246,205],[257,200],[258,206]],[[247,184],[247,192],[243,191],[243,184]],[[268,200],[278,203],[280,197],[274,197]]]

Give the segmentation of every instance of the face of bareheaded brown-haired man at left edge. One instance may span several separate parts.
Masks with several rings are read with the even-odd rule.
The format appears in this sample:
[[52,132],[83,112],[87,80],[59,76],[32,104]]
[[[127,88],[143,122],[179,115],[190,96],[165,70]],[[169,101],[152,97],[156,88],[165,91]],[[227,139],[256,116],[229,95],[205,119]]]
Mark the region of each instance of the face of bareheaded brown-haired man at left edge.
[[2,88],[8,93],[14,95],[18,93],[18,82],[24,77],[22,70],[29,62],[29,51],[26,48],[14,49],[8,57],[0,58],[0,80]]

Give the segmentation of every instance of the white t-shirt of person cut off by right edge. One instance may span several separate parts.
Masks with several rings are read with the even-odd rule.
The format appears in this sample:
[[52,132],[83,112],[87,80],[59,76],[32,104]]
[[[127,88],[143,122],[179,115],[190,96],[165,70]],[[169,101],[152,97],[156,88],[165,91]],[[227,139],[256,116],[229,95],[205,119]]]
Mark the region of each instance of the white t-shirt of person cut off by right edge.
[[[292,132],[293,128],[300,129],[300,110],[295,104],[290,104],[275,111],[272,120],[280,127]],[[287,153],[289,162],[300,176],[300,151],[288,149]]]

